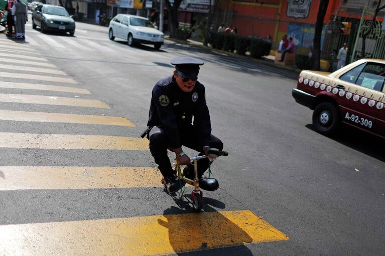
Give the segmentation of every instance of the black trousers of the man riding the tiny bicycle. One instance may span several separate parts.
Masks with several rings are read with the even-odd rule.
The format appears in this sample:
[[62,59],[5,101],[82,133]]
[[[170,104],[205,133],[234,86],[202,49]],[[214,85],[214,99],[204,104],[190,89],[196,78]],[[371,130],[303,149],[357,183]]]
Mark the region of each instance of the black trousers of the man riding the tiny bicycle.
[[[191,129],[183,129],[179,131],[180,140],[183,146],[194,149],[199,153],[199,155],[204,155],[203,148],[199,146],[199,135],[194,131],[193,126]],[[162,175],[165,178],[171,177],[173,175],[173,169],[171,166],[170,158],[167,155],[167,148],[169,142],[166,136],[165,131],[162,127],[154,126],[148,136],[150,140],[150,151],[152,156],[155,159],[155,162],[158,164],[158,168],[161,171]],[[219,150],[223,149],[223,143],[215,137],[210,135],[210,145],[211,148],[217,148]],[[207,170],[210,161],[208,158],[203,158],[198,160],[198,176],[201,177],[202,174]],[[187,165],[190,170],[194,170],[194,165]]]

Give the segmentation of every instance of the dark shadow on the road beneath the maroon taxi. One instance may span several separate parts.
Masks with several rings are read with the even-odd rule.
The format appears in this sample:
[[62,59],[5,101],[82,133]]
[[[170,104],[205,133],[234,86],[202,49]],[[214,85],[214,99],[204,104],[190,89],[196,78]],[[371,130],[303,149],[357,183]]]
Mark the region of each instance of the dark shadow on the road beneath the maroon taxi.
[[[313,124],[305,125],[306,128],[317,132]],[[348,125],[342,125],[340,131],[334,136],[328,136],[328,138],[341,143],[349,148],[359,151],[365,155],[371,156],[377,160],[385,162],[385,155],[381,145],[385,141],[375,135],[361,131]],[[377,143],[376,143],[377,142]]]

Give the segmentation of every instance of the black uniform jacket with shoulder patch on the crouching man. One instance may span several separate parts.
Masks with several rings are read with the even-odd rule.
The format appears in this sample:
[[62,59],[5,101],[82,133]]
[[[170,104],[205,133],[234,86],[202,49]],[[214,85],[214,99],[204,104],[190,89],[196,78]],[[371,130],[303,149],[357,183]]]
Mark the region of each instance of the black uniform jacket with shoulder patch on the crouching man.
[[160,80],[152,92],[147,126],[162,126],[172,148],[182,146],[181,133],[195,132],[201,148],[210,145],[211,123],[204,86],[197,81],[193,91],[186,93],[173,76]]

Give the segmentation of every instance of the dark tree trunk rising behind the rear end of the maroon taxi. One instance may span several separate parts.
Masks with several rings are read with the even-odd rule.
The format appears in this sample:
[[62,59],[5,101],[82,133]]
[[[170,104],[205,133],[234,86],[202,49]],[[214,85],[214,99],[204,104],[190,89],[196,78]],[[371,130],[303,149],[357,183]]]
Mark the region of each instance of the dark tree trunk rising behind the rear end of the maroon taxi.
[[312,56],[312,68],[314,70],[320,70],[321,60],[321,36],[323,21],[325,19],[326,10],[329,5],[329,0],[321,0],[318,8],[317,22],[314,31],[314,45],[313,45],[313,56]]

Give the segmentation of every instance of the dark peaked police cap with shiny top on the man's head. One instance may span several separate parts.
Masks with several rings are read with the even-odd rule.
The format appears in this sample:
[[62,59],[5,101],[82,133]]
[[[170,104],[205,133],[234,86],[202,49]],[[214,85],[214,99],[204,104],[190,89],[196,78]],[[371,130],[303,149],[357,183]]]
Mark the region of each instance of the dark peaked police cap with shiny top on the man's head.
[[184,78],[196,78],[199,73],[199,66],[204,62],[193,57],[178,57],[171,61],[179,76]]

